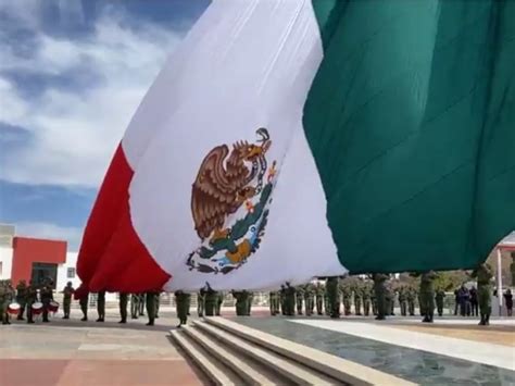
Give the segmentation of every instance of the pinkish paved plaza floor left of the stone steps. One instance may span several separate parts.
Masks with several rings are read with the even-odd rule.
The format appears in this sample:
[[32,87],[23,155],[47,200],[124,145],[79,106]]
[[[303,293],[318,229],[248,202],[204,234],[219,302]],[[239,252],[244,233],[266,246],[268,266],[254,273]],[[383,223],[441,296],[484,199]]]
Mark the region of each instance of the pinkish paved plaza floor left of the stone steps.
[[80,322],[79,312],[63,321],[0,325],[1,386],[193,386],[206,384],[169,343],[167,332],[177,320],[165,314],[153,327],[147,317],[118,324],[108,310],[106,321]]

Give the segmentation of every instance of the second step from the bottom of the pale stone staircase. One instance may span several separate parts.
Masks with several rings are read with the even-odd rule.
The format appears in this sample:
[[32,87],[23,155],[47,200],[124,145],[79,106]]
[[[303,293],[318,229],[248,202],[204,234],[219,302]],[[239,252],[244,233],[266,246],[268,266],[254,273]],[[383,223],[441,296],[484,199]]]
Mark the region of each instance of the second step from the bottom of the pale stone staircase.
[[234,371],[246,385],[284,385],[285,379],[276,376],[265,366],[249,361],[233,348],[224,345],[198,327],[198,323],[183,326],[185,334],[201,346],[210,357],[216,358],[225,368]]

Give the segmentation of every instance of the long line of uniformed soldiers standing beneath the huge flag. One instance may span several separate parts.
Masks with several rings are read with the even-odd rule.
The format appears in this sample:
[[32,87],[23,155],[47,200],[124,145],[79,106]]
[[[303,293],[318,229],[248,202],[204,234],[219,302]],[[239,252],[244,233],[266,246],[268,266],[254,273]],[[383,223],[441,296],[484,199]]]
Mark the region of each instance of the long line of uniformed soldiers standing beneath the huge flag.
[[[361,276],[327,277],[304,285],[291,286],[289,283],[280,286],[280,290],[269,292],[271,315],[328,315],[337,319],[343,315],[375,315],[376,320],[385,320],[394,315],[394,306],[398,302],[400,314],[403,316],[415,315],[416,303],[423,322],[431,323],[435,309],[439,316],[443,315],[445,290],[436,288],[435,279],[438,273],[430,271],[423,274],[412,274],[417,281],[402,281],[386,274]],[[454,314],[462,316],[480,316],[479,324],[488,325],[491,314],[491,279],[492,271],[488,264],[479,265],[472,277],[477,279],[477,288],[467,288],[462,285],[454,291]],[[10,281],[0,282],[0,306],[2,324],[10,324],[10,314],[15,314],[17,320],[24,321],[26,313],[27,323],[35,323],[35,314],[42,315],[42,322],[49,323],[49,313],[54,308],[53,283],[46,281],[37,286],[33,282],[28,285],[21,281],[16,288]],[[62,290],[63,319],[70,319],[72,300],[76,294],[72,283]],[[190,314],[191,295],[186,291],[176,291],[175,303],[179,327],[187,323]],[[251,314],[253,294],[248,290],[233,290],[236,300],[236,314],[248,316]],[[88,306],[90,294],[77,296],[81,321],[88,321]],[[513,296],[507,289],[503,297],[507,314],[512,315]],[[105,291],[96,294],[97,322],[105,320]],[[225,294],[213,290],[209,285],[197,294],[197,312],[199,316],[214,316],[221,314]],[[128,304],[130,301],[130,309]],[[16,307],[13,308],[13,304]],[[353,307],[352,307],[353,306]],[[10,309],[11,307],[11,309]],[[159,317],[160,292],[120,294],[120,323],[127,323],[128,312],[131,319],[145,315],[147,311],[147,325],[154,325]]]

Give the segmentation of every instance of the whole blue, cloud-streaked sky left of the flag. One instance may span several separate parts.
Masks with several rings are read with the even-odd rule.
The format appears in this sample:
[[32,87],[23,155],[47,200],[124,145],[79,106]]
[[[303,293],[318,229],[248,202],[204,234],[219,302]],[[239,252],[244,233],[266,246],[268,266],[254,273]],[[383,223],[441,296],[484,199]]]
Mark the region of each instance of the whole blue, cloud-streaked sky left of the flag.
[[209,0],[0,0],[0,223],[77,250],[105,169]]

